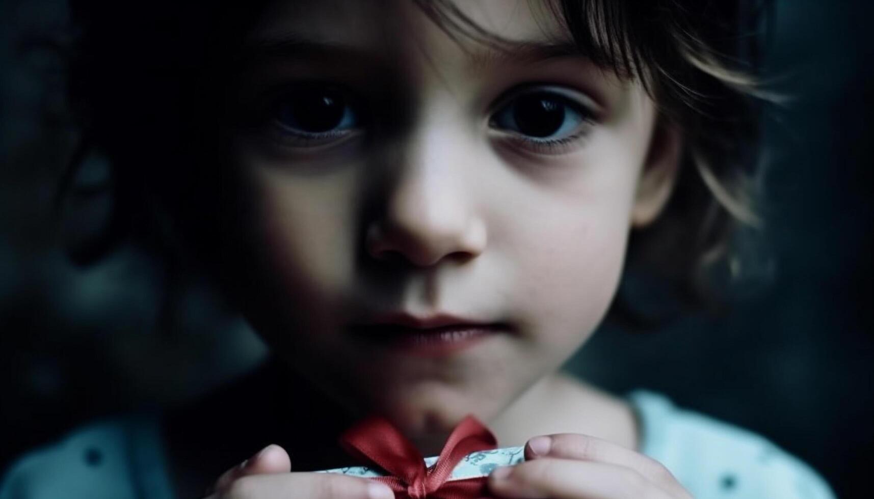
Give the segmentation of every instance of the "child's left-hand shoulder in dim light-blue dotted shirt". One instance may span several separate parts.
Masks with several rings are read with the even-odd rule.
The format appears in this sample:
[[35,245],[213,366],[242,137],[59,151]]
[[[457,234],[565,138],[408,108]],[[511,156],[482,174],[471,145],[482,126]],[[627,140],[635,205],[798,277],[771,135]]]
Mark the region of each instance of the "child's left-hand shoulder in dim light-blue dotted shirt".
[[24,454],[0,480],[0,499],[167,499],[155,416],[104,419]]

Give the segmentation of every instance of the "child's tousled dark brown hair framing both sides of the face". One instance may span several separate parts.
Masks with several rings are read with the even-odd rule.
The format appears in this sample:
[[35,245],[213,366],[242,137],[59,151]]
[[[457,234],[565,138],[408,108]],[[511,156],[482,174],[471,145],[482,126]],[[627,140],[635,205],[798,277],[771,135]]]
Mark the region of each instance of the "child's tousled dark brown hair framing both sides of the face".
[[[415,2],[451,36],[502,44],[449,0]],[[148,233],[166,225],[155,224],[155,212],[142,206],[168,207],[170,225],[181,211],[183,218],[211,217],[198,209],[198,199],[192,202],[191,188],[209,177],[205,172],[212,177],[216,172],[179,161],[191,160],[185,152],[192,143],[208,140],[200,124],[209,120],[210,100],[222,98],[209,86],[225,64],[216,54],[239,45],[264,3],[153,0],[122,8],[108,0],[73,1],[83,30],[71,95],[89,131],[87,147],[101,149],[114,165],[119,206],[114,235],[80,260],[111,247],[132,220],[149,225]],[[580,53],[621,77],[640,80],[662,116],[682,128],[685,149],[676,190],[655,224],[633,233],[628,270],[669,283],[681,301],[706,296],[713,289],[708,285],[712,269],[740,272],[739,253],[732,251],[739,229],[761,225],[755,178],[760,108],[767,95],[755,75],[769,3],[561,0],[538,5],[565,25]],[[220,179],[208,182],[221,191]],[[183,230],[202,229],[190,224]],[[621,313],[616,315],[640,317],[625,313],[629,303],[617,301],[614,311]]]

